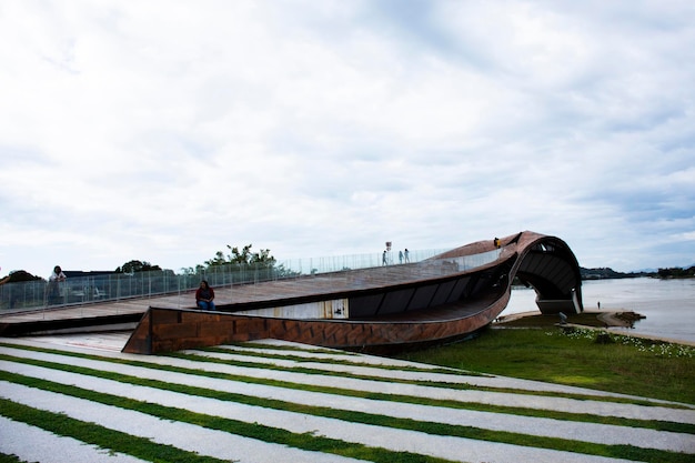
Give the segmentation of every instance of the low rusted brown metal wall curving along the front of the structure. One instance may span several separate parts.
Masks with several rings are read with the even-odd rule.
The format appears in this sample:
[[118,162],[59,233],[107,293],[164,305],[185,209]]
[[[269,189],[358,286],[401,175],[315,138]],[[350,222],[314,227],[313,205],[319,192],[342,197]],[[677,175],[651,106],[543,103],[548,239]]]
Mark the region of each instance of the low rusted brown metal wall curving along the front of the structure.
[[453,340],[494,320],[508,294],[439,313],[383,320],[296,320],[234,313],[151,309],[123,352],[152,354],[260,339],[280,339],[326,348],[377,352],[413,344]]

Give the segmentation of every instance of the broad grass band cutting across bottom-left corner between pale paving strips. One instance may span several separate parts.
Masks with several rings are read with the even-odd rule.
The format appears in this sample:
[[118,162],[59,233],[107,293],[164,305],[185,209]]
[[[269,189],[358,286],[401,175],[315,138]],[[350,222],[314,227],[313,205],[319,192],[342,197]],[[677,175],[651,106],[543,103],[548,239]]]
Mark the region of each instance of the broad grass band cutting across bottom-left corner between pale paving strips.
[[145,437],[75,420],[62,413],[37,410],[7,399],[0,399],[0,413],[11,420],[41,427],[57,435],[73,437],[88,444],[98,445],[101,449],[125,453],[151,462],[229,463],[229,460],[202,456],[172,445],[158,444]]

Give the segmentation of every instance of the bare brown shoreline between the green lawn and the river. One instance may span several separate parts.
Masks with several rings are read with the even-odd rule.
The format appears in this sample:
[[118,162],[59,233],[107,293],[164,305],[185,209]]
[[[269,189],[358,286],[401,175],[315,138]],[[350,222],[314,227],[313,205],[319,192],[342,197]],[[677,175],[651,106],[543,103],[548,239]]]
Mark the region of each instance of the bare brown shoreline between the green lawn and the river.
[[[544,315],[540,311],[528,311],[512,313],[497,318],[493,324],[493,329],[514,329],[514,328],[547,328],[547,326],[575,326],[591,330],[603,330],[611,333],[641,338],[649,341],[668,342],[672,344],[682,344],[688,346],[695,346],[695,342],[676,340],[668,336],[656,336],[652,334],[643,334],[632,331],[618,331],[620,329],[628,330],[634,326],[634,323],[645,319],[631,310],[610,310],[610,311],[584,311],[578,314],[571,314],[567,316],[567,322],[560,323],[558,315]],[[503,326],[508,324],[508,326]]]

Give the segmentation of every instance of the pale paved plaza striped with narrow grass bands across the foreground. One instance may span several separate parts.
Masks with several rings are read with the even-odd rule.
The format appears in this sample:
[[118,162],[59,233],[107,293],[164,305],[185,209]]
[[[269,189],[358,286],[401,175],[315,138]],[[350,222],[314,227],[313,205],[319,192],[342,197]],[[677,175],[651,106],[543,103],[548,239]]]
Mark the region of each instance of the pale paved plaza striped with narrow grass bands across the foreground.
[[[637,405],[625,403],[625,396],[620,394],[501,376],[481,376],[459,370],[444,372],[442,369],[435,370],[411,362],[316,350],[313,346],[279,341],[261,343],[264,345],[225,346],[221,352],[187,351],[187,358],[122,354],[119,350],[124,344],[125,336],[119,334],[3,339],[0,342],[4,343],[0,345],[0,373],[13,374],[0,382],[0,397],[34,410],[64,413],[79,421],[147,437],[162,445],[172,445],[181,452],[197,452],[222,461],[357,460],[292,447],[273,439],[263,442],[197,423],[163,420],[145,413],[145,409],[123,409],[117,402],[95,403],[85,397],[69,396],[41,386],[24,385],[14,379],[43,379],[64,387],[77,385],[114,397],[147,401],[167,407],[183,407],[200,415],[218,416],[234,423],[262,424],[306,436],[328,436],[348,446],[361,444],[394,452],[394,460],[399,452],[411,452],[423,457],[426,455],[453,462],[622,461],[581,451],[556,451],[552,449],[554,439],[576,441],[577,444],[594,443],[606,449],[613,445],[632,445],[645,451],[661,451],[663,453],[658,454],[659,459],[672,455],[667,452],[685,452],[693,454],[695,459],[693,434],[636,427],[634,421],[621,423],[621,419],[629,419],[695,424],[695,406],[674,407],[663,401],[652,401],[651,406]],[[90,370],[74,371],[78,368]],[[120,376],[103,378],[94,372],[118,373]],[[221,374],[233,378],[221,378]],[[123,375],[162,383],[133,384],[123,382]],[[424,381],[430,384],[423,383]],[[163,389],[162,384],[177,384],[183,390],[171,391]],[[467,389],[461,389],[462,385],[467,385]],[[476,389],[480,386],[486,390]],[[241,394],[251,401],[242,403],[225,397],[203,396],[194,387]],[[505,391],[496,392],[490,387]],[[513,391],[508,392],[507,389]],[[547,395],[540,395],[540,392]],[[366,393],[380,395],[365,399]],[[581,397],[562,396],[566,394],[580,394]],[[447,402],[416,403],[434,399]],[[278,405],[279,403],[294,405],[289,407]],[[501,411],[476,411],[470,409],[472,404],[557,410],[567,414],[566,419],[547,419]],[[367,424],[353,421],[345,417],[346,415],[340,419],[321,413],[310,414],[302,412],[299,405],[369,413],[386,420],[380,421],[380,425]],[[596,419],[593,423],[582,422],[573,417],[578,414]],[[614,424],[601,424],[598,421],[602,416],[618,420]],[[0,453],[16,454],[21,461],[47,463],[66,461],[60,457],[73,452],[77,441],[70,436],[58,436],[37,426],[2,420]],[[385,424],[401,420],[407,420],[415,425],[406,430]],[[427,433],[429,425],[432,424],[452,432],[444,432],[443,435]],[[496,442],[474,439],[475,433],[467,437],[457,435],[461,430],[471,429],[480,430],[481,435],[492,432],[492,439]],[[533,445],[506,443],[506,433],[526,435]],[[41,452],[36,445],[37,441],[47,450]],[[84,455],[78,456],[74,453],[71,462],[138,461],[120,453],[111,456],[111,452],[89,445],[81,450],[85,452]],[[105,460],[99,460],[101,457]]]

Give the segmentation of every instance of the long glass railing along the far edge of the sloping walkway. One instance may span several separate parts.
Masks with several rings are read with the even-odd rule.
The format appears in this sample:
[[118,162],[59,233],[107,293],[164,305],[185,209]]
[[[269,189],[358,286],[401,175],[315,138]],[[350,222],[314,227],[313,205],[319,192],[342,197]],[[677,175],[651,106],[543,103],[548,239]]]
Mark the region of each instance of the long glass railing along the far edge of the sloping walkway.
[[[386,253],[386,264],[416,263],[442,252],[442,250],[410,251],[407,262],[405,262],[405,256],[400,260],[397,251],[391,251]],[[201,280],[208,280],[212,286],[230,286],[383,266],[383,264],[384,255],[382,253],[353,254],[278,261],[272,268],[224,264],[213,265],[198,272],[184,271],[181,274],[177,274],[172,270],[163,270],[132,274],[111,273],[75,276],[58,283],[46,280],[6,283],[0,284],[0,314],[185,293],[195,290]]]

